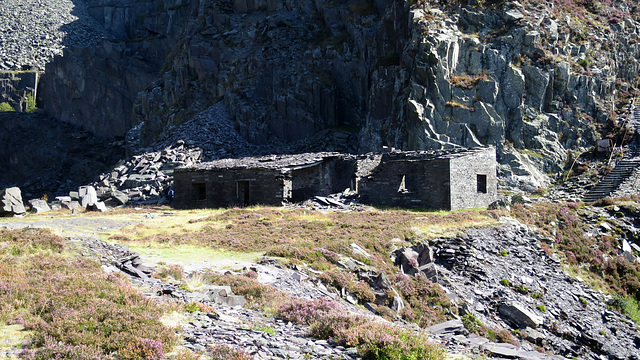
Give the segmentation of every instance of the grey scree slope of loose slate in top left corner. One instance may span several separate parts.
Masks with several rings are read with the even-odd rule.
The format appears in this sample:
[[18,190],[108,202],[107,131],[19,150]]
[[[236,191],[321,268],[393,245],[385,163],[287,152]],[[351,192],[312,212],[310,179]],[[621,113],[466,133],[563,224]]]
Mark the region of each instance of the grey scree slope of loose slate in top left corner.
[[84,0],[0,1],[0,70],[44,70],[63,48],[108,37]]

